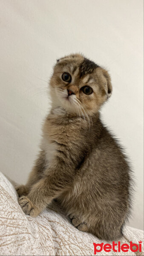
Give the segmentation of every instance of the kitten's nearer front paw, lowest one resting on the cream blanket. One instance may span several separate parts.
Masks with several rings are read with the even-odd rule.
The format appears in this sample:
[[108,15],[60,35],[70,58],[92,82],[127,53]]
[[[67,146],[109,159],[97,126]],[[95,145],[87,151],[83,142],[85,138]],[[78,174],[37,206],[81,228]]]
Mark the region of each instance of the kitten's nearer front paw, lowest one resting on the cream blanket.
[[36,217],[37,215],[39,215],[40,210],[34,204],[32,204],[28,197],[21,196],[18,199],[18,202],[25,214],[31,217]]

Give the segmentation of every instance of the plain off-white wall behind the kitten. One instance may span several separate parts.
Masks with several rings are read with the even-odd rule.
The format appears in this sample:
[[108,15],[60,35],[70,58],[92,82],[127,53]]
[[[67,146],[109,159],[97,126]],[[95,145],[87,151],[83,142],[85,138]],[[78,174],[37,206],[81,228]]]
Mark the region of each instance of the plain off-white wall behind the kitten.
[[50,106],[52,66],[71,52],[112,77],[102,119],[130,157],[129,225],[143,229],[143,0],[0,0],[0,169],[26,182]]

